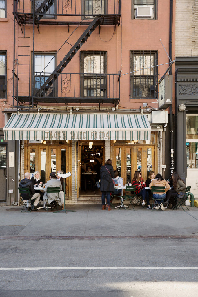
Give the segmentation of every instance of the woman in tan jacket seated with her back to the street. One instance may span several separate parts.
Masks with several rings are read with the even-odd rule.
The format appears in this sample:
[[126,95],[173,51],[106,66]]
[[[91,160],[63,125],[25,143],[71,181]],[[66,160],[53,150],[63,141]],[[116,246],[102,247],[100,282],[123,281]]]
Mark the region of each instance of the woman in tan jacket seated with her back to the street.
[[[155,176],[155,179],[153,179],[151,181],[151,184],[149,185],[149,188],[151,189],[151,187],[165,187],[165,193],[161,193],[161,192],[153,192],[153,198],[159,198],[159,199],[163,199],[161,202],[164,201],[164,198],[166,198],[166,192],[170,189],[169,184],[167,183],[167,181],[161,176],[161,174],[157,174]],[[155,209],[159,209],[161,207],[162,210],[164,210],[164,206],[162,203],[160,203],[160,206],[155,206]]]

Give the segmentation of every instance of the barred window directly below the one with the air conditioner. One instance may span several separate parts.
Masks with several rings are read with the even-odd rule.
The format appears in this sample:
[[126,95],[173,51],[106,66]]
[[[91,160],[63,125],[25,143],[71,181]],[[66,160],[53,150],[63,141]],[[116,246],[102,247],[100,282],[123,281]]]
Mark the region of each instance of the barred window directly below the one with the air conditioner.
[[158,53],[155,50],[130,51],[130,99],[157,98]]

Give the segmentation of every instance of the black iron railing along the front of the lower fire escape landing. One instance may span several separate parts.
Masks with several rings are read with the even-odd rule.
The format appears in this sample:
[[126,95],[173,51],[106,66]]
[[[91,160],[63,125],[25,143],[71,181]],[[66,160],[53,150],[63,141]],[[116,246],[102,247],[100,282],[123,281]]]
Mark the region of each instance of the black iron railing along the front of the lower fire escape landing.
[[[34,93],[37,100],[43,99],[77,99],[92,102],[92,99],[118,99],[120,94],[120,80],[118,74],[98,73],[58,73],[57,79],[50,86],[50,89],[42,96],[40,87],[48,80],[51,73],[36,72],[34,74]],[[52,100],[53,101],[53,100]]]

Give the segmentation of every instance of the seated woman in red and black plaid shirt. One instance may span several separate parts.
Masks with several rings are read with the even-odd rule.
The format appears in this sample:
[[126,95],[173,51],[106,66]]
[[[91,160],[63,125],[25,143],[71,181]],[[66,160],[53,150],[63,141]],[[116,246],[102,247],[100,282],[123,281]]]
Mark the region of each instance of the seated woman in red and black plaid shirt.
[[142,196],[142,206],[145,206],[145,199],[147,202],[147,209],[151,209],[149,202],[149,192],[146,191],[146,184],[141,177],[141,172],[136,170],[132,179],[132,186],[135,186],[135,194]]

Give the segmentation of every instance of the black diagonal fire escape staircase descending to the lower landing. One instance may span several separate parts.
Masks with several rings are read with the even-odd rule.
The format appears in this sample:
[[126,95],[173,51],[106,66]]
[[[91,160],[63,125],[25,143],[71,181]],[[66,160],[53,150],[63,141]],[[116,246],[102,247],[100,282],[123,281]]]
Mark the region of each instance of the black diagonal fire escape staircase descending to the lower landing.
[[96,16],[94,20],[90,23],[88,28],[83,32],[83,34],[77,40],[75,45],[73,45],[72,48],[69,50],[69,52],[66,54],[64,59],[58,64],[56,69],[51,73],[49,78],[47,78],[47,80],[43,83],[39,91],[37,91],[36,94],[34,94],[34,97],[45,96],[45,93],[50,89],[50,86],[52,86],[53,83],[56,81],[56,79],[58,78],[58,75],[61,74],[61,72],[64,70],[67,64],[75,56],[77,51],[81,48],[81,46],[85,43],[85,41],[88,39],[88,37],[91,35],[91,33],[96,29],[98,25],[99,25],[99,16]]

